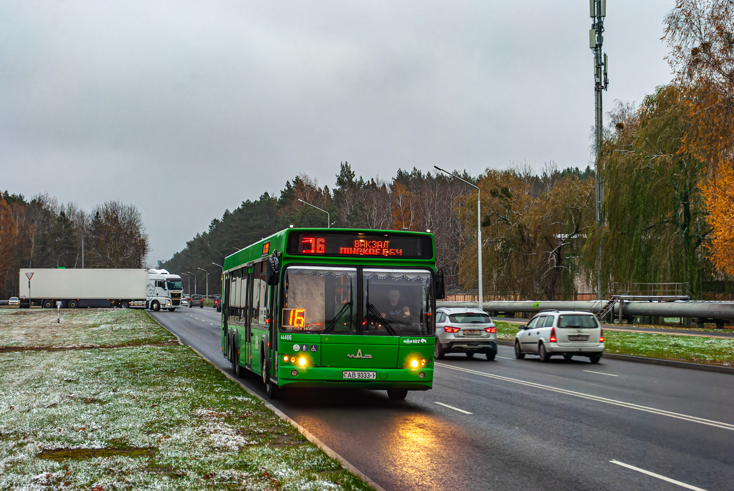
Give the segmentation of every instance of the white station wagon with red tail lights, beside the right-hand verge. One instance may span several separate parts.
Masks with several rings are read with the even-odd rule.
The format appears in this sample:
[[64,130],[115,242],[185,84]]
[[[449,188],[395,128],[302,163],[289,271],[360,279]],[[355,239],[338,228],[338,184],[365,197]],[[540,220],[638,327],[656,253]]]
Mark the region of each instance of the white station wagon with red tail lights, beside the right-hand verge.
[[537,354],[548,361],[554,354],[566,360],[589,357],[599,363],[604,352],[604,331],[594,314],[579,310],[553,310],[537,314],[515,335],[515,357]]

